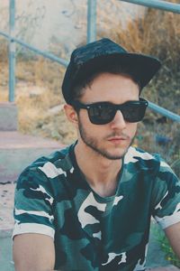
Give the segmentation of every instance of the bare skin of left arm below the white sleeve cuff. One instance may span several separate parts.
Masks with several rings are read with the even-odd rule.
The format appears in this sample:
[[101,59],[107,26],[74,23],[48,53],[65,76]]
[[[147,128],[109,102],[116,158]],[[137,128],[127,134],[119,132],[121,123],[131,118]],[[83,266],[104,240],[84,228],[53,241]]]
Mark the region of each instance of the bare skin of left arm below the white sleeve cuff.
[[55,264],[54,241],[47,235],[26,233],[14,237],[16,271],[51,271]]

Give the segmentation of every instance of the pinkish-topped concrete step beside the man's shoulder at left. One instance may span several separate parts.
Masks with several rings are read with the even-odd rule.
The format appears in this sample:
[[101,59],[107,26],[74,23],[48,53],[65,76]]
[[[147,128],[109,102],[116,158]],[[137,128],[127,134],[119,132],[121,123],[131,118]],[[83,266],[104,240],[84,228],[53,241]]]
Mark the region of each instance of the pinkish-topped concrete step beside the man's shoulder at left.
[[0,182],[14,182],[23,169],[42,155],[62,148],[63,145],[17,131],[0,131]]

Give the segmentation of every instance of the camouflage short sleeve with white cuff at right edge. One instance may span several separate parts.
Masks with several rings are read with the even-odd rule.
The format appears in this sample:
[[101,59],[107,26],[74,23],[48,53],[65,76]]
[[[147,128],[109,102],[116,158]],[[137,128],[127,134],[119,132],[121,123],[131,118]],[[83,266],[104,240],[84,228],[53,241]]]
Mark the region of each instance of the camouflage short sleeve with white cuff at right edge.
[[152,214],[162,229],[180,222],[180,181],[163,160],[160,160],[152,199]]

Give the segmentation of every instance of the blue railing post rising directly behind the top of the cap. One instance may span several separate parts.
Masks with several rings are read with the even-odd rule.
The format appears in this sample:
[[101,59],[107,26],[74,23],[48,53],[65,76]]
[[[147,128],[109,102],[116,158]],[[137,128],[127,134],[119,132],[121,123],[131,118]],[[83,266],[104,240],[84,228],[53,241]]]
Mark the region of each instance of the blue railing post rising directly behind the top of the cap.
[[96,40],[96,0],[87,0],[87,43]]

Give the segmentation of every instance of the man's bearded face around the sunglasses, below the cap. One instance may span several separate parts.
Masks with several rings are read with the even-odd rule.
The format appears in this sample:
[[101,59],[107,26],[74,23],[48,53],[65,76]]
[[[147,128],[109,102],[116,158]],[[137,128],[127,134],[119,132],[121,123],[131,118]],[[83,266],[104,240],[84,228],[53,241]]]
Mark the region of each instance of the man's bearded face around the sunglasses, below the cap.
[[[129,77],[111,73],[102,73],[96,77],[80,101],[84,104],[108,101],[123,104],[130,100],[139,100],[139,87]],[[105,125],[90,122],[87,110],[80,109],[78,115],[79,144],[94,154],[110,160],[121,159],[127,152],[136,134],[137,123],[128,123],[121,111],[116,112],[112,121]]]

